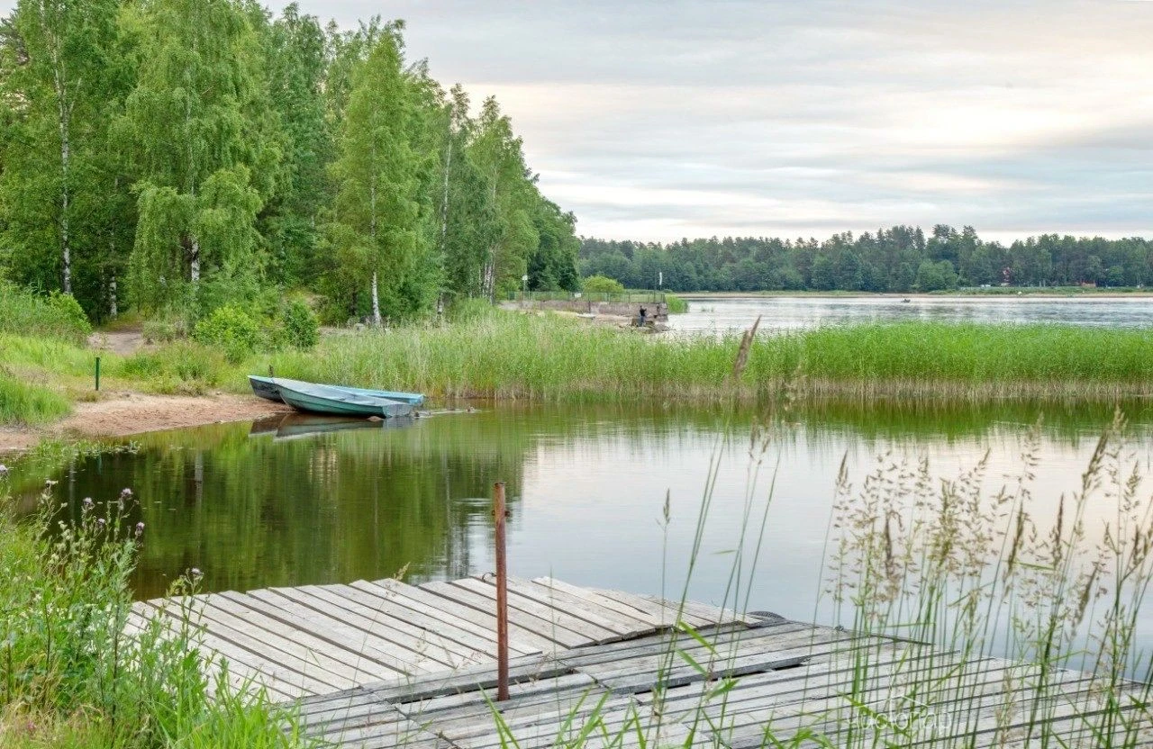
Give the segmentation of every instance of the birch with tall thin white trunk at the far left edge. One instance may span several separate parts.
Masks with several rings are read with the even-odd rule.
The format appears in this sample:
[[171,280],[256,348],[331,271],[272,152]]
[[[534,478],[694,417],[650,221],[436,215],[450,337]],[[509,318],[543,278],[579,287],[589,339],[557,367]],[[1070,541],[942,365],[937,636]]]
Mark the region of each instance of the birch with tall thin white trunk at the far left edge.
[[[115,0],[20,0],[3,35],[3,133],[0,205],[15,275],[74,292],[84,214],[77,203],[107,190],[99,149],[116,88]],[[91,308],[91,300],[88,307]]]

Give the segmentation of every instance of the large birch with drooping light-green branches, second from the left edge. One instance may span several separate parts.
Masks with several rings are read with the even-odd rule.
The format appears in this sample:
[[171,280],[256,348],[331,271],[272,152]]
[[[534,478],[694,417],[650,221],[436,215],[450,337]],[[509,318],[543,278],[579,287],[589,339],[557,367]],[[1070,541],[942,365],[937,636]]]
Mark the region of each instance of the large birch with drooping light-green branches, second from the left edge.
[[258,265],[256,217],[280,176],[258,39],[234,0],[150,0],[127,104],[141,169],[134,292],[194,295],[202,274]]

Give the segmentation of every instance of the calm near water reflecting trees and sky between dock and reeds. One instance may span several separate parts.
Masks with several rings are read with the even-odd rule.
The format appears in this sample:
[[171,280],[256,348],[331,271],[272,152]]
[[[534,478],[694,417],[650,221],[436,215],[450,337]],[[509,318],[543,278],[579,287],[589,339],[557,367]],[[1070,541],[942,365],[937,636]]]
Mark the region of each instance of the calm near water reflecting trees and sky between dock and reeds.
[[[1148,471],[1153,410],[1128,409]],[[763,502],[776,472],[752,607],[828,620],[814,603],[842,459],[859,483],[890,451],[927,456],[935,472],[955,476],[989,449],[989,482],[998,486],[1019,472],[1022,438],[1042,414],[1034,492],[1043,516],[1078,485],[1110,406],[790,415],[771,432],[752,492]],[[85,459],[22,481],[32,502],[44,478],[58,479],[73,514],[84,497],[111,499],[133,487],[141,507],[131,522],[148,527],[135,581],[142,597],[159,595],[194,566],[210,590],[379,578],[402,568],[416,582],[487,572],[495,481],[508,485],[513,573],[635,592],[660,592],[663,584],[673,592],[717,457],[714,506],[689,585],[693,598],[715,602],[739,536],[751,466],[753,416],[734,417],[728,441],[726,421],[717,410],[500,407],[331,431],[339,424],[295,416],[148,434],[135,454]],[[1148,641],[1153,621],[1145,623]]]

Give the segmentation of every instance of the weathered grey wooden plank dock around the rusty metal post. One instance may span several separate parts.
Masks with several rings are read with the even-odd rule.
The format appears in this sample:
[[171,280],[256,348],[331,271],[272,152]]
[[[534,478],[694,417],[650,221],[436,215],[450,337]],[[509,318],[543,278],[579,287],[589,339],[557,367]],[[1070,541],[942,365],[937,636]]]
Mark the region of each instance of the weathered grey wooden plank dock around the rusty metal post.
[[235,683],[263,684],[307,735],[338,747],[752,749],[799,732],[831,746],[1153,746],[1148,686],[1102,689],[1075,671],[700,604],[677,627],[677,604],[551,578],[508,591],[499,719],[484,577],[142,602],[130,626],[197,612]]

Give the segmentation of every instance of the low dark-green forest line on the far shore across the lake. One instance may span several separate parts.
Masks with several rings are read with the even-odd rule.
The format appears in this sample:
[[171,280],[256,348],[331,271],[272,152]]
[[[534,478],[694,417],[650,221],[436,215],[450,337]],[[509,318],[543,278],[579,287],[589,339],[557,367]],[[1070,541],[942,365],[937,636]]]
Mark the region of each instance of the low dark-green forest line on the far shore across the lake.
[[859,236],[725,237],[669,244],[581,239],[581,275],[677,292],[935,292],[958,286],[1153,285],[1153,242],[1042,234],[1009,245],[971,226],[895,226]]

